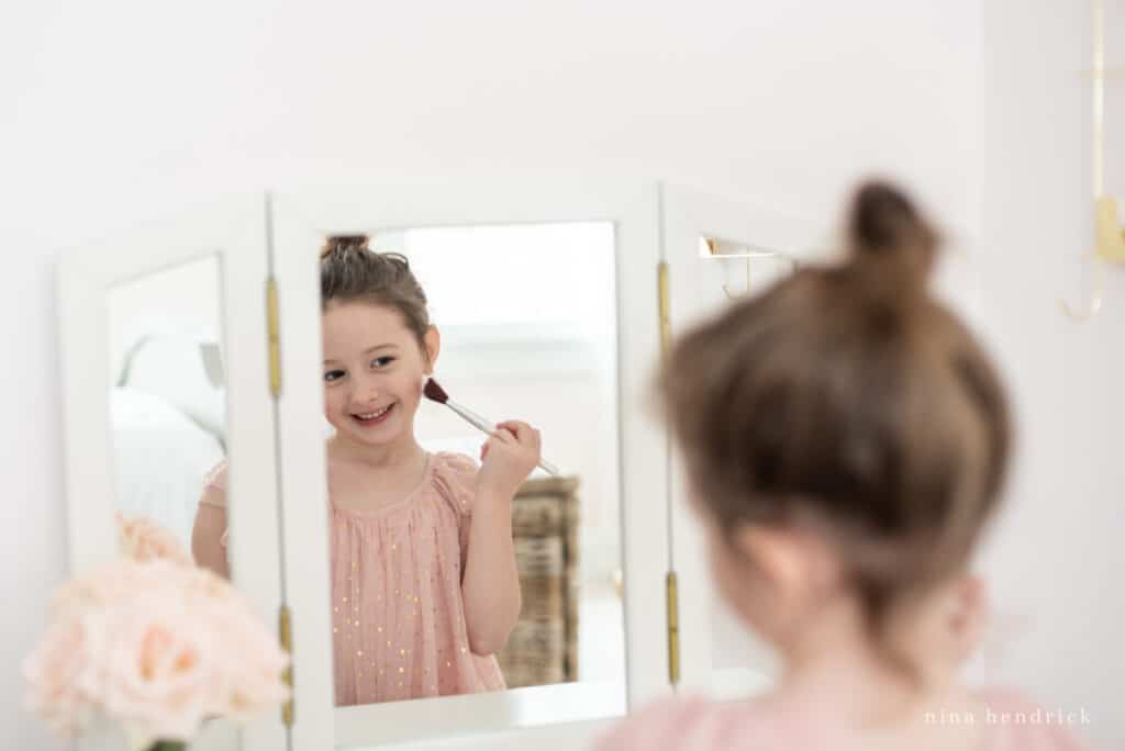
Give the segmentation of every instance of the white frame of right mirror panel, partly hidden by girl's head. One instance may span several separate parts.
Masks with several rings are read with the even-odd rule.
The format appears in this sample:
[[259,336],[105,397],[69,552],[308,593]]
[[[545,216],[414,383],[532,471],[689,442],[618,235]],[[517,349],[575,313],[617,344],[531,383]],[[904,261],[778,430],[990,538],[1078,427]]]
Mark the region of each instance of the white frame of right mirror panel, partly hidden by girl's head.
[[[817,235],[820,228],[810,220],[683,187],[662,186],[662,206],[673,336],[729,305],[723,283],[730,270],[723,264],[740,266],[746,263],[746,259],[701,257],[700,237],[721,237],[752,247],[776,248],[799,263],[813,260],[816,254],[810,248],[821,239]],[[756,262],[756,259],[750,260],[752,274]],[[739,270],[736,277],[740,274]],[[677,691],[704,694],[717,699],[737,699],[759,693],[773,680],[771,655],[749,634],[753,667],[714,667],[712,617],[720,597],[708,570],[702,526],[684,497],[684,467],[682,456],[675,451],[670,486],[672,563],[680,583],[681,678]]]

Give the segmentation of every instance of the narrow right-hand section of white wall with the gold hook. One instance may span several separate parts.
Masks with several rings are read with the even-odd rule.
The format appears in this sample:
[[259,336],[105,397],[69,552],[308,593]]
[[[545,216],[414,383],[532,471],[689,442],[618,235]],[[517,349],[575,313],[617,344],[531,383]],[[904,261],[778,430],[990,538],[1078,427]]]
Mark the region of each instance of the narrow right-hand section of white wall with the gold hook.
[[[1010,506],[982,555],[1011,636],[974,667],[1056,705],[1087,707],[1089,736],[1119,749],[1125,269],[1107,274],[1105,307],[1087,325],[1065,318],[1056,301],[1078,306],[1090,290],[1080,261],[1092,242],[1083,4],[984,6],[980,308],[1015,392],[1019,446]],[[1122,65],[1125,2],[1106,4],[1107,62]],[[1119,118],[1125,76],[1109,83],[1107,98]],[[1107,130],[1115,146],[1107,186],[1125,198],[1123,135],[1117,119]]]

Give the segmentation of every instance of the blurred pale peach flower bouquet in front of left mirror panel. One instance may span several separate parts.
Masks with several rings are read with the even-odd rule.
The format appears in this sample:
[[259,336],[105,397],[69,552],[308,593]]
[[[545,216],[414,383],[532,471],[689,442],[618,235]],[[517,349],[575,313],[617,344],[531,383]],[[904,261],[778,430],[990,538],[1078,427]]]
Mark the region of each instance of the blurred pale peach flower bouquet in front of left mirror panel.
[[127,558],[63,585],[24,663],[29,708],[58,734],[107,721],[133,751],[183,749],[206,718],[288,698],[288,655],[226,580],[146,519],[118,519]]

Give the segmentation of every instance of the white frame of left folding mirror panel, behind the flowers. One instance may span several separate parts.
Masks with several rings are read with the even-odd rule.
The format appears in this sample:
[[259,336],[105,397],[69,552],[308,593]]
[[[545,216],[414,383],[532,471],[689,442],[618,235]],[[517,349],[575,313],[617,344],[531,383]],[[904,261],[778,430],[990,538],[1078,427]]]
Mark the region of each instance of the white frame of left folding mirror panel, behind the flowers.
[[[78,248],[60,262],[58,335],[63,376],[65,491],[71,573],[118,557],[116,478],[110,426],[110,288],[145,274],[218,256],[222,335],[227,370],[228,508],[234,585],[272,630],[281,585],[278,561],[273,400],[266,327],[268,275],[261,197],[234,198],[188,217],[156,221]],[[200,478],[200,491],[202,478]],[[120,739],[90,738],[83,751],[119,749]],[[280,713],[236,730],[212,722],[192,749],[286,748]]]

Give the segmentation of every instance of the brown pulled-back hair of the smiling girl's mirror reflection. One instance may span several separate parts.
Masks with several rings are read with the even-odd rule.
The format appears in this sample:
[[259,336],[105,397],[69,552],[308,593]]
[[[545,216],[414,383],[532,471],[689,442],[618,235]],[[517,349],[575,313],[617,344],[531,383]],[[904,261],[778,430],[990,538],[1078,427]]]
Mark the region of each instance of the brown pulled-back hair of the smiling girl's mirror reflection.
[[330,302],[368,302],[397,310],[425,356],[430,314],[406,256],[371,251],[367,235],[331,235],[321,248],[322,309]]

